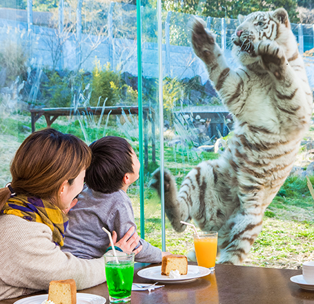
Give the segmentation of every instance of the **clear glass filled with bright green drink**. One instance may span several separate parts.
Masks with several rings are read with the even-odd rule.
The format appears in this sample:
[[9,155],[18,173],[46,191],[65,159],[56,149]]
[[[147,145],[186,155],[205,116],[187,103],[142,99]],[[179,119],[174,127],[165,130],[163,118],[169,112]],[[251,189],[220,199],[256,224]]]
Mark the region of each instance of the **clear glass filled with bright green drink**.
[[134,256],[133,252],[117,252],[117,256],[104,255],[110,303],[130,302]]

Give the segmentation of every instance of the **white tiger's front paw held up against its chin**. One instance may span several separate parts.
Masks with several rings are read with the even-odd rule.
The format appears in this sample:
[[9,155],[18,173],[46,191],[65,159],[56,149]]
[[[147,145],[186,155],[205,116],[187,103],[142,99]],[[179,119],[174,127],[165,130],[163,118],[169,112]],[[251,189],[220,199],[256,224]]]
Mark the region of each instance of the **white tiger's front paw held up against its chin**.
[[257,55],[261,57],[262,66],[273,73],[277,79],[283,79],[286,67],[284,49],[276,41],[264,40],[257,45]]

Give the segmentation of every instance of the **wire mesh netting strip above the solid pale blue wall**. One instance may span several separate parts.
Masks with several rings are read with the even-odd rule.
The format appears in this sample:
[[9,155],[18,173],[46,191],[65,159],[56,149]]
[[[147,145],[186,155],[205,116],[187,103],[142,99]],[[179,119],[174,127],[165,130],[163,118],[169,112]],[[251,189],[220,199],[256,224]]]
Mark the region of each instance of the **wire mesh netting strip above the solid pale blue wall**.
[[[77,31],[77,1],[32,0],[32,10],[28,10],[26,0],[2,0],[0,3],[0,20],[23,23],[41,28],[66,28],[70,32]],[[61,7],[59,7],[61,5]],[[144,42],[157,42],[157,9],[141,8],[141,32]],[[190,46],[188,25],[193,15],[180,12],[162,14],[163,43],[171,46]],[[81,32],[95,36],[108,36],[116,39],[137,39],[137,9],[126,3],[86,0],[81,8]],[[237,19],[221,19],[201,17],[208,28],[217,35],[217,44],[223,48],[231,48],[231,36],[239,22]],[[314,47],[312,25],[291,24],[297,42],[304,51]],[[302,35],[302,37],[299,37]]]

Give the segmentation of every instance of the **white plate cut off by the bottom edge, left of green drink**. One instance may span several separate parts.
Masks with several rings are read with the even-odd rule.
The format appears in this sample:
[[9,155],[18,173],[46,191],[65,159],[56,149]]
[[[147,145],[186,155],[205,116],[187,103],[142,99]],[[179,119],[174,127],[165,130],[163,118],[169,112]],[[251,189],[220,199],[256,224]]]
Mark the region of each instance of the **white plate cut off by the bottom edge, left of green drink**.
[[[28,296],[28,298],[21,298],[21,300],[14,302],[14,304],[41,304],[48,300],[48,294],[39,294],[39,296]],[[97,296],[96,294],[79,294],[77,293],[77,304],[104,304],[106,298]]]

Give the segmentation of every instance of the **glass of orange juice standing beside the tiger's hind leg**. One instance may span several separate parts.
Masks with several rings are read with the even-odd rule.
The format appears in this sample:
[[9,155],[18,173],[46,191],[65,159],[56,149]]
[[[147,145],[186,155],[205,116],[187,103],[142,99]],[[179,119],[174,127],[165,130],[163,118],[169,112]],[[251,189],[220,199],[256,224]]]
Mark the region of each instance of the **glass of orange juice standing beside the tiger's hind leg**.
[[217,256],[217,231],[199,232],[199,238],[194,234],[194,247],[197,265],[215,270]]

